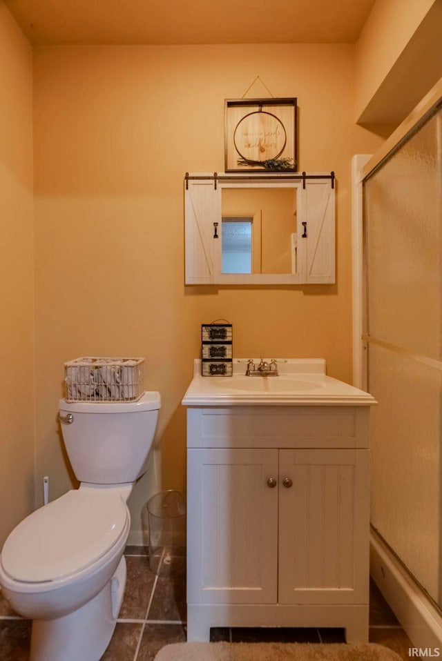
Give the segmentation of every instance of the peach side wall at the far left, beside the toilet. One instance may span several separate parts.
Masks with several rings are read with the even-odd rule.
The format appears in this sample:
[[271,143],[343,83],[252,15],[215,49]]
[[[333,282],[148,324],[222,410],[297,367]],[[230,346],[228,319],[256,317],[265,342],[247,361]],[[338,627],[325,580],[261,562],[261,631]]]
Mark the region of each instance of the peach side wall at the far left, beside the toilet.
[[34,506],[32,50],[0,1],[0,547]]

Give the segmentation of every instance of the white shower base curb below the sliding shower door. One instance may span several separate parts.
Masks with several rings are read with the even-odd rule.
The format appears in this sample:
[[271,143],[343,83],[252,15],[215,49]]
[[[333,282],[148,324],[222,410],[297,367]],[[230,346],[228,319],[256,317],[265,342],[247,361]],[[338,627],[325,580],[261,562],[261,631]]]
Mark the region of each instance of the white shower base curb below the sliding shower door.
[[370,574],[414,647],[442,650],[441,615],[374,531]]

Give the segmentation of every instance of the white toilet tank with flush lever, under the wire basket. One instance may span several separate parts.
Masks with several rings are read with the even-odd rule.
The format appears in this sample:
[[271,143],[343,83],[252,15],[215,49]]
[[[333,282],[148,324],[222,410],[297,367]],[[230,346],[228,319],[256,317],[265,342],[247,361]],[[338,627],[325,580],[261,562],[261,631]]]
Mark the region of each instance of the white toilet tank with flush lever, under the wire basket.
[[66,452],[80,482],[135,482],[146,470],[161,408],[160,393],[137,402],[73,402],[60,399]]

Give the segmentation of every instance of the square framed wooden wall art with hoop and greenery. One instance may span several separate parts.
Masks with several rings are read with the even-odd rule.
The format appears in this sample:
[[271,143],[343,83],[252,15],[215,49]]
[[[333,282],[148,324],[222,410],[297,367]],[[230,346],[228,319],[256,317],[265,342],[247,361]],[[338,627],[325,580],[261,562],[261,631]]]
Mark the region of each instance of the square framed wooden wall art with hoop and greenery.
[[226,99],[226,172],[298,171],[296,99]]

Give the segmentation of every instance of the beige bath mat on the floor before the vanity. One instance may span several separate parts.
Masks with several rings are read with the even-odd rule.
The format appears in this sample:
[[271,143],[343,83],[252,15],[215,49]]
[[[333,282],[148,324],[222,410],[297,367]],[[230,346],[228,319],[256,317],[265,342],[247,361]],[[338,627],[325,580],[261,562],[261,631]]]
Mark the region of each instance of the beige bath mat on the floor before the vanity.
[[401,661],[374,643],[178,642],[163,647],[155,661]]

